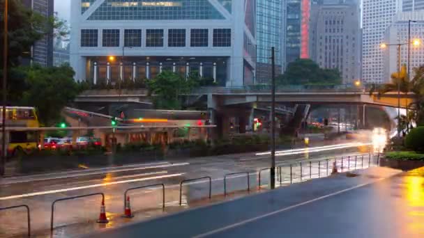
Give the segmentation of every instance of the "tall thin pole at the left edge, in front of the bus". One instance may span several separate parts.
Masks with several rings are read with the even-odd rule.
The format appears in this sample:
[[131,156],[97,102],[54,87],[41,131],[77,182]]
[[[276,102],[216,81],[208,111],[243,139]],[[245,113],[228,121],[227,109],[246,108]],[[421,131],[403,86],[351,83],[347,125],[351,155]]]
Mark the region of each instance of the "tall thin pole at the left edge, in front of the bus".
[[8,0],[4,1],[3,13],[3,111],[1,112],[2,127],[1,127],[1,163],[0,163],[0,176],[5,173],[6,164],[6,93],[7,93],[7,79],[8,79]]

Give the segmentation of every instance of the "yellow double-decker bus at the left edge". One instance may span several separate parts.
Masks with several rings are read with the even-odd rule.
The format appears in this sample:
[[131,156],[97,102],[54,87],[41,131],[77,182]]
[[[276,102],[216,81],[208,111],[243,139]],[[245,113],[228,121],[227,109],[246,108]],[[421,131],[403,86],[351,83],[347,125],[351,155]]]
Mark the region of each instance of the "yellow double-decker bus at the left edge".
[[[3,109],[0,107],[0,123],[2,122]],[[7,106],[6,127],[40,127],[36,109],[31,106]],[[26,153],[35,150],[38,148],[38,137],[38,132],[33,131],[25,132],[12,130],[6,132],[8,156],[13,157],[22,152]]]

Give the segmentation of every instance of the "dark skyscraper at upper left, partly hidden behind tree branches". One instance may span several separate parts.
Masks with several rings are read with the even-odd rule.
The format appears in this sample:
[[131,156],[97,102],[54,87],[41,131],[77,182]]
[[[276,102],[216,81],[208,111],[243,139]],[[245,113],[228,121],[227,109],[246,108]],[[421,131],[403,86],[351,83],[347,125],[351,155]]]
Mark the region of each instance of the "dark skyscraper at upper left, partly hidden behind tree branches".
[[[54,0],[23,0],[24,6],[31,8],[45,17],[53,17]],[[53,65],[53,35],[48,33],[38,40],[32,47],[31,59],[33,63],[42,66]]]

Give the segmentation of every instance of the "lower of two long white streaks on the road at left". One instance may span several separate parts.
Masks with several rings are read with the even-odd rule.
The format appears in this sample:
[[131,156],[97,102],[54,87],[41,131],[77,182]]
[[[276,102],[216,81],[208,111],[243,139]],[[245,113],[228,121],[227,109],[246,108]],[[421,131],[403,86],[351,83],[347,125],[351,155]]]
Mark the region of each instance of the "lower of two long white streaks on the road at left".
[[93,184],[93,185],[87,185],[87,186],[82,186],[82,187],[73,187],[73,188],[68,188],[68,189],[58,189],[58,190],[42,191],[42,192],[36,192],[36,193],[26,193],[26,194],[21,194],[21,195],[3,197],[3,198],[0,198],[0,200],[28,198],[28,197],[33,197],[33,196],[41,196],[41,195],[47,195],[47,194],[52,194],[52,193],[63,193],[63,192],[67,192],[67,191],[75,191],[75,190],[80,190],[80,189],[93,189],[93,188],[96,188],[96,187],[106,187],[106,186],[114,185],[114,184],[128,184],[130,182],[142,182],[142,181],[148,181],[148,180],[158,180],[158,179],[168,178],[168,177],[178,177],[178,176],[181,176],[181,175],[184,175],[184,174],[185,173],[174,173],[172,175],[161,175],[161,176],[156,176],[156,177],[143,177],[143,178],[139,178],[139,179],[136,179],[136,180],[123,180],[123,181],[118,181],[118,182],[106,182],[106,183],[103,183],[103,184]]

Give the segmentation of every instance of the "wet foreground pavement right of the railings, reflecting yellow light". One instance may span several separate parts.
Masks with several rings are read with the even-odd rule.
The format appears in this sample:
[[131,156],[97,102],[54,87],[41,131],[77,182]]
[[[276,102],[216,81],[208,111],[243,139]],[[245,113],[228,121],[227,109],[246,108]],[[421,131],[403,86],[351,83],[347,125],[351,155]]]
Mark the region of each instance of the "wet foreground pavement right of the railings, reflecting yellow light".
[[337,175],[87,237],[424,237],[424,168]]

